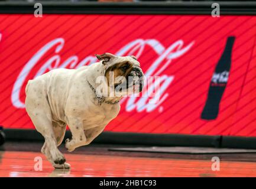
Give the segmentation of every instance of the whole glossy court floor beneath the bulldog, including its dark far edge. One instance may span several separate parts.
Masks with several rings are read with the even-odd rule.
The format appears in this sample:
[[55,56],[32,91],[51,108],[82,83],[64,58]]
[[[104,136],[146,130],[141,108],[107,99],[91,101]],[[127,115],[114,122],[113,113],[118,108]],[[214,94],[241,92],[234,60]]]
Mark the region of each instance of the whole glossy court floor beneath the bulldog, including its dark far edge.
[[[0,177],[256,177],[256,153],[167,154],[109,151],[112,145],[93,144],[69,153],[70,170],[54,170],[42,142],[7,142],[0,148]],[[120,147],[120,146],[114,146]],[[124,147],[124,146],[121,146]],[[212,157],[220,158],[213,171]],[[42,170],[35,164],[42,158]]]

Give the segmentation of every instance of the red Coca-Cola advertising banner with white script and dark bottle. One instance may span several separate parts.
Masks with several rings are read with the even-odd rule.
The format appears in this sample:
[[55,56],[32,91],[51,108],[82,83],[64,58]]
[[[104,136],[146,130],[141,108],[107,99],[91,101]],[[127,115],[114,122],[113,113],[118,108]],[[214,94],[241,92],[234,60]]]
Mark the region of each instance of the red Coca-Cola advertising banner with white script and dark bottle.
[[255,23],[252,16],[1,14],[0,125],[34,128],[24,108],[29,79],[109,52],[136,56],[145,76],[159,76],[160,96],[124,97],[105,131],[256,136]]

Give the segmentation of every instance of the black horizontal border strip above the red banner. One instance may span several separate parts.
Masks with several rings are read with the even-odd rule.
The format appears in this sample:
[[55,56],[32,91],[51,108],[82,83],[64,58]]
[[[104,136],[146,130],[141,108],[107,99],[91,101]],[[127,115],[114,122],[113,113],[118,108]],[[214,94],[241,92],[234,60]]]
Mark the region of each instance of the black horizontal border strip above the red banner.
[[[214,2],[47,2],[43,14],[211,15]],[[221,15],[256,15],[255,1],[217,2]],[[35,3],[0,2],[0,14],[34,14]]]

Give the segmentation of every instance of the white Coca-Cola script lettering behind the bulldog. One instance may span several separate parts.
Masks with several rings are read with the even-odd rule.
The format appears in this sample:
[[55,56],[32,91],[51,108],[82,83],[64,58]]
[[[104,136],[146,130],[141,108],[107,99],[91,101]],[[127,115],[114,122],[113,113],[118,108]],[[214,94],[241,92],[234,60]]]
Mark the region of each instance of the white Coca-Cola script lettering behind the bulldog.
[[[63,49],[64,46],[64,39],[63,38],[56,38],[46,45],[42,47],[40,50],[35,53],[35,55],[25,64],[23,69],[21,70],[17,80],[14,83],[14,87],[12,89],[11,94],[11,100],[12,105],[14,105],[17,108],[24,108],[24,102],[21,102],[20,100],[20,90],[21,87],[25,83],[25,80],[27,79],[28,74],[33,69],[35,64],[40,61],[40,59],[44,56],[44,54],[47,53],[51,48],[55,46],[54,52],[56,53],[54,56],[48,58],[46,63],[41,66],[41,68],[37,71],[34,78],[37,76],[40,76],[41,74],[45,73],[46,70],[53,70],[57,68],[67,68],[69,65],[70,69],[77,69],[81,66],[90,65],[92,63],[95,63],[97,61],[95,56],[88,56],[84,58],[83,60],[79,61],[79,58],[77,56],[70,56],[67,58],[67,60],[63,61],[63,63],[60,63],[61,57],[58,55],[60,51]],[[130,112],[132,110],[137,110],[137,112],[141,112],[143,110],[146,110],[146,112],[151,112],[155,108],[161,105],[161,103],[164,102],[164,100],[168,97],[168,93],[166,93],[166,89],[168,86],[170,86],[171,82],[174,80],[174,76],[168,76],[167,74],[161,74],[163,71],[168,67],[168,65],[171,64],[171,61],[174,58],[178,58],[182,56],[184,53],[186,53],[192,45],[195,43],[195,41],[192,41],[185,47],[183,47],[184,43],[182,40],[178,40],[175,43],[171,44],[169,47],[165,48],[159,41],[154,39],[137,39],[132,41],[131,43],[128,43],[124,47],[122,47],[119,51],[117,51],[115,54],[116,56],[129,56],[134,55],[136,57],[140,57],[143,53],[143,50],[146,45],[153,48],[155,53],[158,54],[158,58],[153,61],[151,66],[145,71],[145,77],[147,76],[159,76],[160,80],[160,87],[157,89],[157,92],[159,93],[160,98],[155,98],[152,95],[147,96],[129,96],[124,97],[121,100],[121,103],[124,103],[127,100],[127,104],[125,106],[125,110],[127,112]],[[136,53],[136,54],[135,54]],[[53,66],[54,65],[54,66]],[[147,83],[147,92],[153,93],[153,86],[154,83]],[[137,99],[139,98],[139,99]],[[151,99],[150,99],[151,98]],[[135,102],[136,100],[136,102]],[[148,103],[150,100],[151,103]]]

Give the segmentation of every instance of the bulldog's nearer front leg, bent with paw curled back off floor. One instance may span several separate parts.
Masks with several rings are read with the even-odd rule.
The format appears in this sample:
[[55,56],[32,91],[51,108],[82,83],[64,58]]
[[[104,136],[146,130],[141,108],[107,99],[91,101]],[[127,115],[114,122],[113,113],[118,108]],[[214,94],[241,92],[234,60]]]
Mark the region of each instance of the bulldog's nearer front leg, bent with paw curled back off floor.
[[68,118],[67,124],[69,125],[72,133],[72,139],[66,139],[67,151],[72,152],[77,147],[86,143],[85,132],[83,131],[83,120],[79,118]]

